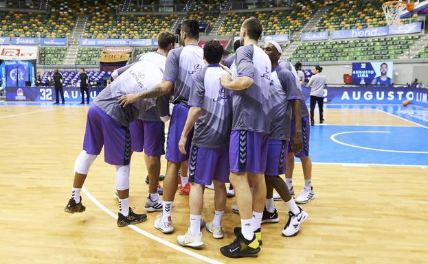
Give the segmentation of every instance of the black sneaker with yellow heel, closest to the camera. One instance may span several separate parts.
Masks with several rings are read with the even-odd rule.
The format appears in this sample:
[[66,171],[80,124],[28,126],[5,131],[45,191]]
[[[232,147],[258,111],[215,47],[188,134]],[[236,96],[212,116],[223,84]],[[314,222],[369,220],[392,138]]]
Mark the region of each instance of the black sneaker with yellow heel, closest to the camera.
[[220,248],[221,254],[228,258],[242,258],[244,256],[256,256],[260,252],[260,245],[254,235],[253,239],[247,240],[243,235],[236,237],[230,244]]

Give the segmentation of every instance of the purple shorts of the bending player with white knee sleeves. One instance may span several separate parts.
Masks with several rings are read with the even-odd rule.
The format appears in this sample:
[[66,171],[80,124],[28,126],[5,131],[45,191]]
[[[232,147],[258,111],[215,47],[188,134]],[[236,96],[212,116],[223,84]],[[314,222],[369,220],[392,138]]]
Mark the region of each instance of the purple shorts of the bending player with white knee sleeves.
[[83,150],[100,155],[104,145],[104,160],[111,165],[128,165],[131,160],[131,133],[109,115],[91,104],[88,110]]

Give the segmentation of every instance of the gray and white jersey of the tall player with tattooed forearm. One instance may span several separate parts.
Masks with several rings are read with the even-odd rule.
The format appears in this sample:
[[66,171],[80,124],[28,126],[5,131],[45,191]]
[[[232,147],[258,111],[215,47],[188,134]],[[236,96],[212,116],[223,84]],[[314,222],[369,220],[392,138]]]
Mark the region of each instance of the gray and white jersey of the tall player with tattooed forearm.
[[172,104],[188,106],[193,77],[203,65],[203,49],[196,44],[172,49],[168,53],[163,80],[174,84]]

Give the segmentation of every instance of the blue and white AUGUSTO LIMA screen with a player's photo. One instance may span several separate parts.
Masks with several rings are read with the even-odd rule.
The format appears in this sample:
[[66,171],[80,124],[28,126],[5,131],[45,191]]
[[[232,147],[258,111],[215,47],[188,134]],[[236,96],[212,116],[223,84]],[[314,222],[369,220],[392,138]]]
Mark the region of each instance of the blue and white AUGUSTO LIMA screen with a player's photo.
[[393,77],[393,62],[352,63],[352,84],[392,85]]

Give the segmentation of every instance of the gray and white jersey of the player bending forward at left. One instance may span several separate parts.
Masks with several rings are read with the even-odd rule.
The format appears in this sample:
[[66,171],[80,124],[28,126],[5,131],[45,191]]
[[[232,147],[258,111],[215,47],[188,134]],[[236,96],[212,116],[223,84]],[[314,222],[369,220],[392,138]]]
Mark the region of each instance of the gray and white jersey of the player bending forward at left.
[[112,117],[120,125],[128,126],[138,119],[141,110],[147,110],[156,104],[156,98],[140,99],[122,108],[118,99],[129,93],[141,93],[156,84],[162,78],[162,72],[155,64],[139,60],[122,72],[116,80],[109,84],[95,97],[93,104]]

